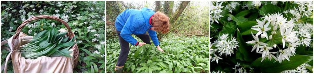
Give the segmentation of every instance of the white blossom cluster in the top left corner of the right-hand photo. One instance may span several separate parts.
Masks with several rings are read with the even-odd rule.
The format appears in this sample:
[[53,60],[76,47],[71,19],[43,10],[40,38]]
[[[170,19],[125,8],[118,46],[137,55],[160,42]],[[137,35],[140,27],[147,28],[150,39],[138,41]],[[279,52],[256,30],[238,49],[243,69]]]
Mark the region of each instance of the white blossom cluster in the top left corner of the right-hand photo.
[[[214,3],[213,3],[214,2]],[[219,21],[219,18],[220,17],[223,17],[222,15],[220,15],[221,13],[222,13],[222,8],[224,7],[224,6],[221,6],[222,5],[222,3],[223,2],[218,2],[218,1],[212,1],[212,2],[210,2],[209,3],[209,5],[210,5],[210,12],[209,12],[209,14],[210,14],[210,24],[213,24],[214,23],[214,21],[216,21],[217,23],[219,23],[218,21]],[[216,6],[214,6],[214,4],[216,5]]]

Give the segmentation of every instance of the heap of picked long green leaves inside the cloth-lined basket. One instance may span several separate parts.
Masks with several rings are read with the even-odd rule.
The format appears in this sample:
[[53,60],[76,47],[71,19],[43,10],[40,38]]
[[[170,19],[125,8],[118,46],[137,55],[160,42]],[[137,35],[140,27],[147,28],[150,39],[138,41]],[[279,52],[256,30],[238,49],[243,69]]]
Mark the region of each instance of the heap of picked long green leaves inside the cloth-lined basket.
[[[35,59],[41,56],[71,57],[68,51],[74,45],[74,39],[65,36],[67,32],[57,32],[56,28],[43,30],[33,37],[30,43],[20,46],[24,58]],[[24,40],[27,41],[27,40]]]

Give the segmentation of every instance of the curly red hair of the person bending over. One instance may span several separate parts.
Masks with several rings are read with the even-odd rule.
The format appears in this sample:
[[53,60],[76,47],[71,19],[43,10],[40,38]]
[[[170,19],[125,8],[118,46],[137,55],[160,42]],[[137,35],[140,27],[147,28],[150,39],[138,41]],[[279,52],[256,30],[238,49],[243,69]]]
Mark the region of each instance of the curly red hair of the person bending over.
[[156,31],[163,34],[169,32],[169,17],[162,12],[156,12],[152,18],[152,25],[155,27]]

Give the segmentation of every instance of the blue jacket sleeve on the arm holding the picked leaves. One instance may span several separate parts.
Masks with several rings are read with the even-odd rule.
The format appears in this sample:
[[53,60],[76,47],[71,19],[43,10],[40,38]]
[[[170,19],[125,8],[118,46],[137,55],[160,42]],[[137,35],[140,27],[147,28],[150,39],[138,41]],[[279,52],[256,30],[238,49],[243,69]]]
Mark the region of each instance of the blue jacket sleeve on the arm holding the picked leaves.
[[120,33],[122,39],[124,39],[125,41],[132,45],[136,45],[138,42],[131,36],[132,32],[139,27],[137,22],[138,21],[136,21],[134,16],[129,16]]

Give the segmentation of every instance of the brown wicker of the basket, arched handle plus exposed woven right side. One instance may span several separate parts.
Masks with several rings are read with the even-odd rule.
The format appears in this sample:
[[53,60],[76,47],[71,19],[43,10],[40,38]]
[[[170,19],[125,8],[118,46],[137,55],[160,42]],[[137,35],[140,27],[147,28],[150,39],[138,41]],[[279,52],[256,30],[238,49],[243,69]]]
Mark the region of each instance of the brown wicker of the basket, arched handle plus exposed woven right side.
[[[55,17],[55,16],[40,15],[40,16],[32,16],[29,19],[23,21],[22,24],[17,28],[13,39],[19,39],[19,34],[20,34],[21,30],[23,29],[23,27],[26,24],[28,24],[29,22],[31,22],[33,20],[38,20],[38,19],[51,19],[51,20],[59,21],[63,25],[65,25],[65,27],[68,29],[67,35],[69,36],[69,39],[72,39],[75,36],[74,33],[71,31],[71,28],[68,25],[68,23],[66,23],[62,19],[59,19],[58,17]],[[72,46],[72,49],[73,49],[73,67],[76,67],[76,64],[78,62],[78,46],[76,43]]]

